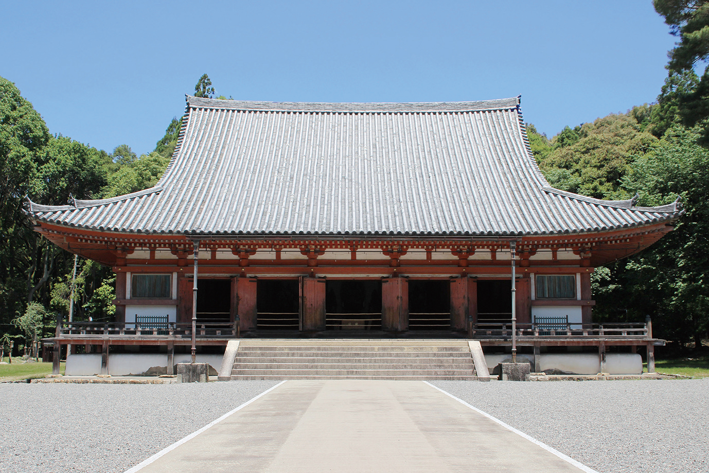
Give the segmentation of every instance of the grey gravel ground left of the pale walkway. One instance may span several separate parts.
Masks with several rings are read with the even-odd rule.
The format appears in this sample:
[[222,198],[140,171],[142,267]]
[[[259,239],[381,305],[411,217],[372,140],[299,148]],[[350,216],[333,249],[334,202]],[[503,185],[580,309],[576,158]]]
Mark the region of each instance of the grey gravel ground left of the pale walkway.
[[0,384],[0,471],[124,472],[275,384]]

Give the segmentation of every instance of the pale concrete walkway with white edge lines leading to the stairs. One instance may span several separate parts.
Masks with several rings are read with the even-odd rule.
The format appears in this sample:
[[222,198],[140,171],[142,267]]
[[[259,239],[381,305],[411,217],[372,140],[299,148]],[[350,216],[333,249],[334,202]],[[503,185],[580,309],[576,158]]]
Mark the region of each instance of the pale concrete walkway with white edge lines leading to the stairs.
[[580,471],[424,382],[357,380],[286,382],[140,469]]

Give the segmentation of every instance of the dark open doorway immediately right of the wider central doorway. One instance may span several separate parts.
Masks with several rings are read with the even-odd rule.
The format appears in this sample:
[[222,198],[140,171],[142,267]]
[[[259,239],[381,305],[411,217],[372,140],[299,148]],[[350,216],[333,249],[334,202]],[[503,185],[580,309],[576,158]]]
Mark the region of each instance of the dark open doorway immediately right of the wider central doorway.
[[450,329],[450,281],[408,282],[409,330]]

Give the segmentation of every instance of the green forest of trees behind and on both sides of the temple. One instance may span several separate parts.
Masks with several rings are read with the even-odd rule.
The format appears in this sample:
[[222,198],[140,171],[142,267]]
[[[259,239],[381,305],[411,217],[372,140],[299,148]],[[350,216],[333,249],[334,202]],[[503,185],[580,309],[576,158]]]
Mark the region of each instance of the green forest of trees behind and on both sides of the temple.
[[[676,229],[638,255],[596,269],[596,321],[654,320],[654,334],[676,350],[699,349],[709,338],[709,0],[655,0],[679,40],[669,52],[668,77],[657,102],[627,113],[567,126],[553,138],[527,125],[532,152],[552,186],[600,199],[656,206],[681,198]],[[701,71],[700,71],[701,72]],[[196,96],[213,96],[204,74]],[[220,96],[219,98],[224,98]],[[55,314],[110,321],[115,277],[110,268],[74,256],[38,237],[22,213],[28,196],[62,205],[152,186],[177,143],[173,118],[155,150],[137,156],[128,145],[96,150],[52,135],[18,88],[0,77],[0,336],[50,335]]]

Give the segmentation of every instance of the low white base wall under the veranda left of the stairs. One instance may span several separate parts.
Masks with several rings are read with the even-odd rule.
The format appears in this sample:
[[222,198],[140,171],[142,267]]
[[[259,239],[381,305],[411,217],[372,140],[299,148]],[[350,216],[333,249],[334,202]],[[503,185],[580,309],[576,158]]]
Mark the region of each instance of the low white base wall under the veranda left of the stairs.
[[[192,357],[181,353],[174,356],[174,365],[189,363]],[[209,375],[216,376],[222,355],[197,355],[198,363],[209,364]],[[177,373],[173,367],[173,374]],[[101,373],[101,353],[82,353],[67,357],[67,376],[91,376]],[[158,376],[167,374],[167,353],[112,353],[108,355],[111,376]]]

